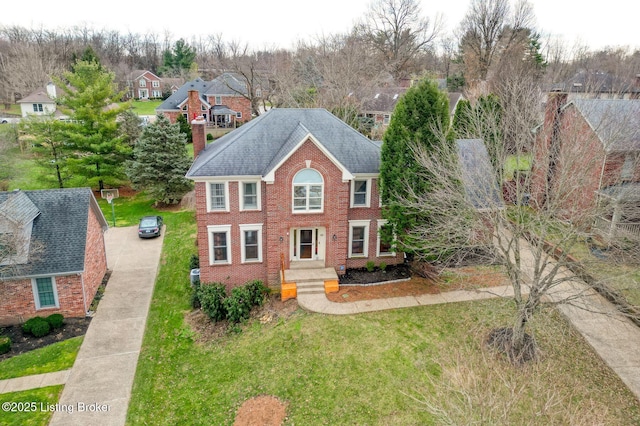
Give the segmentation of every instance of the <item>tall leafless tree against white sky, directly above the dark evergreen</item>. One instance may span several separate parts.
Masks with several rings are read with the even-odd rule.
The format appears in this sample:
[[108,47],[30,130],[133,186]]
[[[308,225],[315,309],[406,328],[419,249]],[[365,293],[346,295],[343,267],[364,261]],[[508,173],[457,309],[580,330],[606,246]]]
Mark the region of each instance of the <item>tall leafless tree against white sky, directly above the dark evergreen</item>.
[[417,0],[376,0],[356,27],[396,81],[415,71],[412,61],[435,40],[442,20],[421,16]]

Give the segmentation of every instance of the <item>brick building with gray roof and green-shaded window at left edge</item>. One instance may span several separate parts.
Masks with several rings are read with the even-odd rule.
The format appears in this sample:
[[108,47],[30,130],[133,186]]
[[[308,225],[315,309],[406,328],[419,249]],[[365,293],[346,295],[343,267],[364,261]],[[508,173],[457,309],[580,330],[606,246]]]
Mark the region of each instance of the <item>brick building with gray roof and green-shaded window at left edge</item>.
[[107,271],[89,188],[0,192],[0,324],[84,317]]

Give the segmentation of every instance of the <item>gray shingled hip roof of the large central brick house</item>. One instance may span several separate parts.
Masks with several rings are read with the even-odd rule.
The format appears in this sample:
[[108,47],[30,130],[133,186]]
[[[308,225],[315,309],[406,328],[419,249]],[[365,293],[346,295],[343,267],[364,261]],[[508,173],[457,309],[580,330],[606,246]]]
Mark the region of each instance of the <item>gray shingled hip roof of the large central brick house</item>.
[[264,177],[308,134],[350,173],[379,172],[380,145],[329,111],[274,108],[209,144],[187,177]]

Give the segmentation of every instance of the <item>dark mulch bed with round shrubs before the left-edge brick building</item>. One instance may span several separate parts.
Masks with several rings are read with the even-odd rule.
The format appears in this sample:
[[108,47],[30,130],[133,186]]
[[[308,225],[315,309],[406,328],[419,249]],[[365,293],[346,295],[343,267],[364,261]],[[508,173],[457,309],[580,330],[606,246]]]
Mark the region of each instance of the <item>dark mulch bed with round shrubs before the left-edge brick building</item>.
[[91,323],[91,318],[65,318],[64,324],[43,337],[33,337],[22,332],[22,325],[12,325],[0,328],[0,336],[9,336],[11,350],[0,355],[0,361],[38,349],[52,343],[61,342],[76,336],[83,336]]

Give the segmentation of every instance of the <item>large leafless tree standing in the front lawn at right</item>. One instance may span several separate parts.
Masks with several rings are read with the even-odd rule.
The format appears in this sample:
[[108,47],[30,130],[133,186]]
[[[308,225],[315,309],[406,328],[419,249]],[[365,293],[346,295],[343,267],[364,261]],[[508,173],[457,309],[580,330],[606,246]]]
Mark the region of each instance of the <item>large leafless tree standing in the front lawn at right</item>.
[[[577,121],[568,121],[563,123],[562,137],[556,138],[555,143],[550,146],[546,142],[536,143],[531,151],[527,138],[506,143],[504,135],[514,132],[505,132],[504,127],[510,124],[503,122],[497,109],[472,111],[475,112],[469,114],[468,125],[470,129],[477,129],[478,136],[485,136],[489,156],[494,161],[483,162],[481,152],[458,150],[446,143],[445,135],[441,135],[442,143],[430,151],[416,145],[415,155],[424,173],[434,179],[434,189],[423,195],[410,192],[408,197],[396,202],[415,211],[430,212],[428,224],[410,231],[414,237],[410,240],[415,245],[412,251],[424,258],[447,264],[471,253],[487,253],[496,255],[504,263],[517,311],[511,326],[495,330],[491,338],[512,361],[523,362],[535,356],[535,342],[527,330],[544,298],[584,307],[580,303],[580,292],[567,296],[567,283],[575,281],[575,275],[568,273],[567,268],[573,267],[572,251],[600,239],[602,232],[594,224],[605,217],[606,209],[611,207],[587,199],[585,193],[591,192],[588,188],[594,183],[594,170],[602,167],[602,160],[594,149],[600,142],[597,138],[586,140],[584,127]],[[510,116],[517,121],[517,114]],[[602,127],[615,128],[606,124],[610,123],[606,118]],[[547,126],[541,137],[554,132],[557,134],[557,126]],[[473,130],[470,133],[474,133]],[[619,135],[611,136],[625,138],[628,134],[620,131]],[[541,139],[548,140],[549,137]],[[537,180],[539,183],[533,187],[531,179],[535,173],[505,167],[531,158],[548,165],[545,168],[538,164],[536,173],[550,176]],[[463,167],[461,164],[465,163],[469,164]],[[511,195],[516,204],[505,206],[496,200],[508,179],[514,182]],[[410,182],[407,187],[411,188]],[[533,196],[529,199],[530,191]],[[633,203],[625,206],[636,212],[633,217],[638,217],[640,203],[632,200]],[[626,214],[629,215],[629,211]],[[630,237],[625,235],[625,238]],[[635,253],[638,244],[628,244],[625,249]]]

